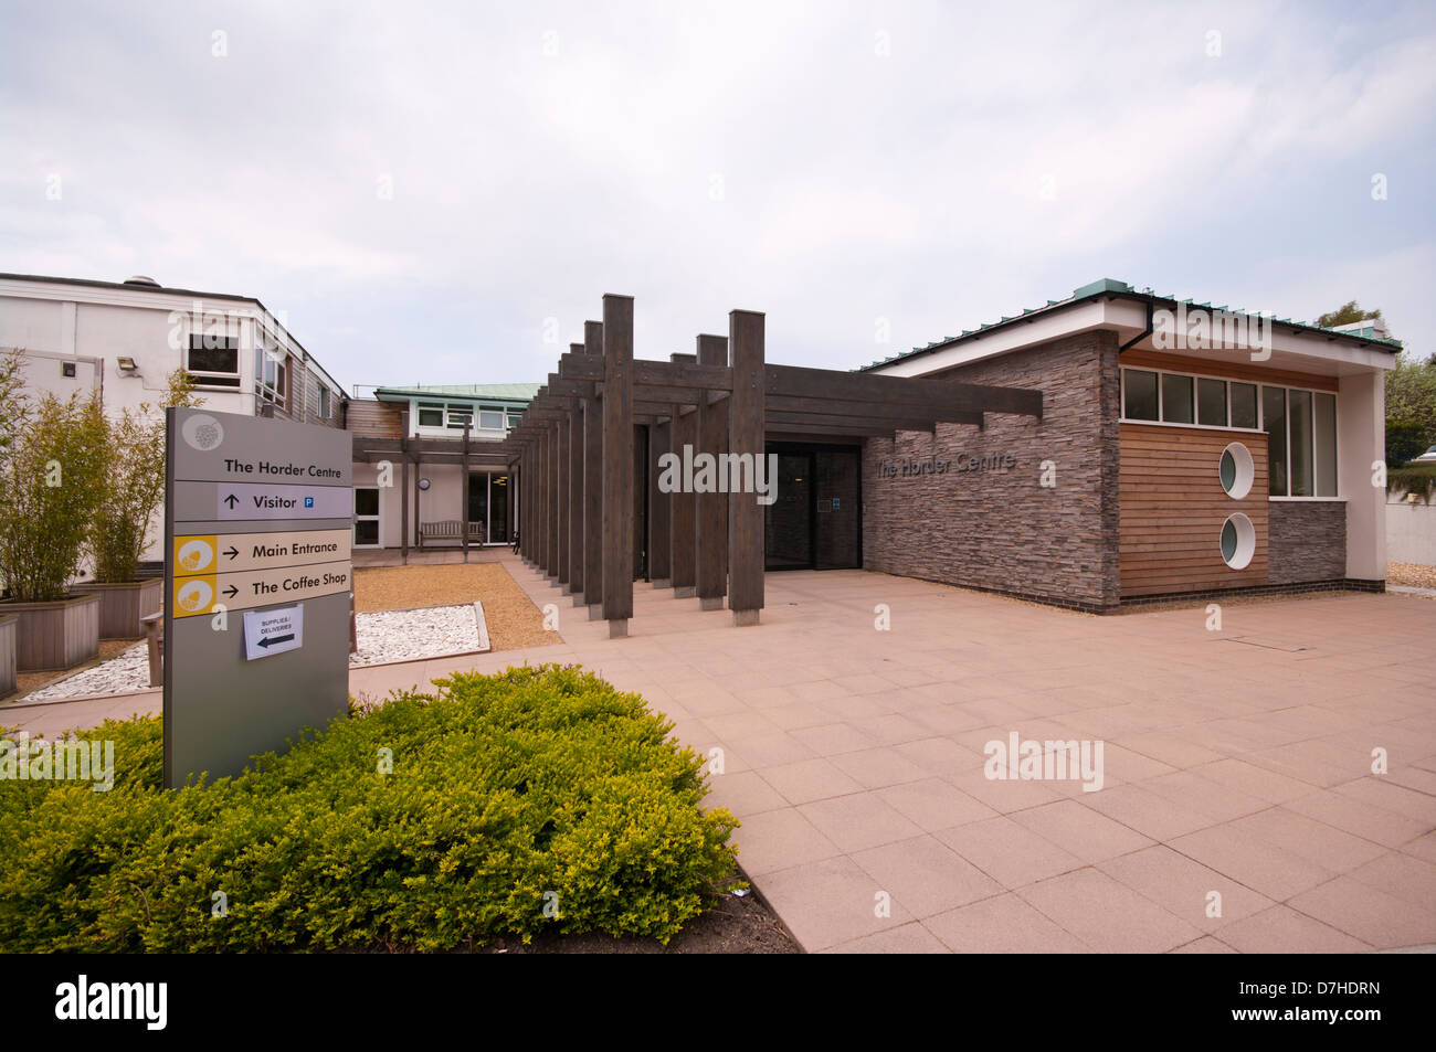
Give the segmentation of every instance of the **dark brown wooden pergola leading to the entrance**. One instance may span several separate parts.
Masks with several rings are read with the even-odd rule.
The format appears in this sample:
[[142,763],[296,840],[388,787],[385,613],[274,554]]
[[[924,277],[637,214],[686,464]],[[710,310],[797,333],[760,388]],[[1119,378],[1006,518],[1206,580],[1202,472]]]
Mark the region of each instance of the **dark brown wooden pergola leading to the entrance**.
[[[583,343],[570,344],[495,452],[517,474],[510,492],[526,563],[625,636],[638,551],[655,587],[698,596],[705,610],[727,598],[734,624],[757,624],[763,610],[758,494],[662,492],[665,452],[691,446],[757,464],[770,435],[862,441],[938,423],[982,428],[984,413],[1041,419],[1043,392],[768,365],[764,316],[750,310],[729,311],[727,337],[698,336],[692,354],[636,360],[633,297],[609,294],[603,321],[584,323]],[[636,534],[640,478],[646,537]]]

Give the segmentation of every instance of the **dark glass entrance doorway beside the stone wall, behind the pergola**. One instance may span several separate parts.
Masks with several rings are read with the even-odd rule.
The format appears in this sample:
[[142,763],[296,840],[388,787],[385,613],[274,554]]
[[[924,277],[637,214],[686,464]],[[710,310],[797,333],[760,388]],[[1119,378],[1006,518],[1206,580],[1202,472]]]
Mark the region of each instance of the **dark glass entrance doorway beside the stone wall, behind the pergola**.
[[777,499],[764,511],[768,570],[856,570],[862,551],[862,448],[768,442]]

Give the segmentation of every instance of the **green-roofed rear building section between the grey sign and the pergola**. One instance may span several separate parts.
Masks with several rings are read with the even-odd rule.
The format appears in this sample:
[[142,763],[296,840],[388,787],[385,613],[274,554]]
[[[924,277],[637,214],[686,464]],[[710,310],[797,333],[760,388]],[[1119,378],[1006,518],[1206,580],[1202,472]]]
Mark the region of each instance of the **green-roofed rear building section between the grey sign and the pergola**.
[[416,385],[352,400],[355,548],[510,544],[517,498],[497,449],[537,390]]

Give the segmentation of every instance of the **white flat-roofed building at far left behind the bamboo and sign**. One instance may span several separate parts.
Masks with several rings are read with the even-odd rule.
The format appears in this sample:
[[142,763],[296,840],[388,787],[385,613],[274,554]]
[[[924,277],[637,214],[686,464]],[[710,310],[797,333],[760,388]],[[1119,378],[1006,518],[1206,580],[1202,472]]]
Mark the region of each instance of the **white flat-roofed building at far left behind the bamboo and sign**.
[[[225,413],[345,426],[343,388],[260,300],[169,288],[149,277],[89,281],[0,274],[0,349],[24,356],[37,396],[98,393],[118,415],[158,403],[185,369]],[[152,528],[151,561],[161,558]]]

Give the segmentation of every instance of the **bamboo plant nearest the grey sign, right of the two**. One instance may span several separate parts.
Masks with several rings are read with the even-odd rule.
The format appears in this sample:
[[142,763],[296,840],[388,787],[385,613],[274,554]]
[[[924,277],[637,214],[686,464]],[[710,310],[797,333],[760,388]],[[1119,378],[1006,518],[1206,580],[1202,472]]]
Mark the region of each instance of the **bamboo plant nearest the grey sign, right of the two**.
[[123,409],[106,425],[106,481],[90,520],[89,553],[95,580],[135,580],[145,555],[149,525],[165,498],[165,408],[195,406],[194,380],[182,369],[169,373],[162,403]]

